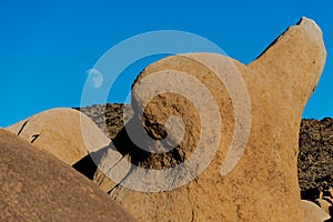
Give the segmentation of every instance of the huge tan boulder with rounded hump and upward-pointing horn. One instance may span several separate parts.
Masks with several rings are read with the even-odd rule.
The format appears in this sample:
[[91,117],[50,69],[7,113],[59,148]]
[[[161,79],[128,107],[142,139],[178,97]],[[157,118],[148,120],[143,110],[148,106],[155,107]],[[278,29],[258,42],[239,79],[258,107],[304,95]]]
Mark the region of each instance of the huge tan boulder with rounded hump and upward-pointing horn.
[[[157,72],[169,78],[176,77],[176,71],[184,72],[194,77],[210,91],[220,109],[219,118],[223,123],[220,131],[221,141],[213,153],[212,162],[195,180],[198,172],[195,169],[189,170],[188,176],[193,179],[190,183],[164,192],[133,191],[124,184],[135,174],[138,168],[129,167],[119,184],[109,183],[111,196],[140,221],[302,221],[304,212],[296,168],[299,131],[303,108],[319,81],[325,57],[321,30],[312,20],[304,18],[297,26],[289,28],[249,65],[223,56],[206,53],[175,56],[151,64],[134,83],[132,101],[135,115],[132,121],[141,121],[148,133],[157,139],[155,142],[147,143],[151,151],[160,151],[161,147],[173,144],[173,139],[181,131],[179,129],[183,128],[184,137],[170,152],[142,152],[131,143],[117,149],[141,169],[172,169],[194,155],[200,143],[202,123],[213,121],[211,117],[216,118],[215,113],[201,117],[198,107],[191,103],[191,98],[170,91],[145,104],[154,91],[149,91],[150,88],[142,89],[140,85]],[[246,125],[242,125],[242,119],[234,121],[236,114],[233,105],[236,101],[232,100],[230,89],[226,90],[213,71],[224,74],[226,81],[231,79],[228,82],[230,84],[232,75],[239,71],[251,101],[251,132],[246,149],[234,169],[232,164],[226,165],[231,171],[226,171],[223,176],[220,172],[221,167],[226,164],[225,158],[232,162],[241,154],[236,152],[234,157],[228,155],[233,130]],[[168,78],[163,79],[167,80]],[[158,81],[155,84],[175,90],[183,87],[185,81],[186,79],[179,81],[175,78],[163,82],[163,85]],[[157,90],[157,87],[151,89]],[[193,87],[190,94],[198,97],[195,91],[196,88]],[[238,108],[240,107],[235,109]],[[142,118],[140,113],[143,113]],[[183,125],[176,123],[178,130],[171,130],[170,133],[167,130],[168,118],[172,115],[180,117]],[[213,122],[204,130],[215,133],[215,125],[219,127]],[[120,134],[122,135],[114,141],[127,139],[123,132]],[[161,142],[165,138],[167,142]],[[210,140],[203,141],[203,150],[208,152],[201,153],[202,159],[210,155],[210,151],[214,151],[211,144],[219,141],[219,137]],[[114,164],[110,164],[110,155],[114,152],[110,150],[102,160],[100,167],[104,172],[114,168]],[[142,180],[144,179],[143,174]],[[173,174],[157,180],[172,180],[176,183],[181,178]],[[148,186],[151,185],[150,182],[148,181]]]

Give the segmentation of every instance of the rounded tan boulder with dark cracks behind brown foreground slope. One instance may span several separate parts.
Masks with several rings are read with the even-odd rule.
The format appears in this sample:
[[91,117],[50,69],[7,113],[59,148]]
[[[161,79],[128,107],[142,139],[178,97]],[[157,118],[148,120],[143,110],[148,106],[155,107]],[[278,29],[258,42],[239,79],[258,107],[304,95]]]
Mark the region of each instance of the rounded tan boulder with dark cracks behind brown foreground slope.
[[88,152],[97,151],[110,143],[90,118],[65,108],[47,110],[7,130],[70,165],[81,160]]

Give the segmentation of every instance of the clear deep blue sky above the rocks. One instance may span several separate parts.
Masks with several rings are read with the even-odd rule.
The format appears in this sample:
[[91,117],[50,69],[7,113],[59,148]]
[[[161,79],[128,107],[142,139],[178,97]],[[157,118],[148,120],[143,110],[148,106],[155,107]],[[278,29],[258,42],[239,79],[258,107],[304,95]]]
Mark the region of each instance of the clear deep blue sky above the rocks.
[[[112,46],[154,30],[202,36],[249,63],[301,17],[324,32],[327,60],[304,118],[333,117],[333,1],[1,1],[0,125],[56,107],[79,107],[87,71]],[[110,102],[122,102],[138,72],[133,64]]]

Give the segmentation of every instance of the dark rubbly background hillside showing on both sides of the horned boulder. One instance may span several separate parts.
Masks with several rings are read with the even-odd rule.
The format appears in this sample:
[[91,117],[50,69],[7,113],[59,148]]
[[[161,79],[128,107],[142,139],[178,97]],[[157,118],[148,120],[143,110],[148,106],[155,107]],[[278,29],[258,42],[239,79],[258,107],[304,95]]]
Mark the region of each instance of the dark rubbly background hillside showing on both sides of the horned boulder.
[[[107,109],[105,109],[107,108]],[[123,111],[123,109],[125,111]],[[123,113],[129,112],[129,104],[104,104],[80,108],[80,111],[111,139],[121,131],[124,122]],[[324,186],[333,188],[333,119],[323,120],[303,119],[300,128],[299,140],[299,184],[306,200],[319,198]],[[317,194],[311,194],[316,190]]]

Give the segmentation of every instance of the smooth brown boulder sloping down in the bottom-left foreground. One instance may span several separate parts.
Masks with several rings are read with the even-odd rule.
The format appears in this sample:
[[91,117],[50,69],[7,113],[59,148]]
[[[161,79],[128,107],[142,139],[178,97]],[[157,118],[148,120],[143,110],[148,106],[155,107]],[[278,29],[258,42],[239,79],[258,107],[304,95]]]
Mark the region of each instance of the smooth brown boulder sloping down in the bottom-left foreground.
[[133,221],[95,184],[0,130],[0,221]]

